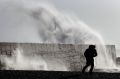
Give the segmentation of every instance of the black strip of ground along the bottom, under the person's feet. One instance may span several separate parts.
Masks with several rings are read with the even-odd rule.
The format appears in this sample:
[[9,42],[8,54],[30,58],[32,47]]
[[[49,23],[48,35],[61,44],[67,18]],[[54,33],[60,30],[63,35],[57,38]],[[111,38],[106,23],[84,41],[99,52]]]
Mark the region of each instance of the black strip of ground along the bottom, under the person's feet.
[[120,79],[120,73],[1,70],[0,79]]

